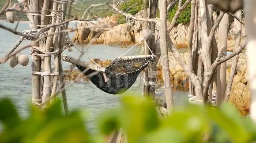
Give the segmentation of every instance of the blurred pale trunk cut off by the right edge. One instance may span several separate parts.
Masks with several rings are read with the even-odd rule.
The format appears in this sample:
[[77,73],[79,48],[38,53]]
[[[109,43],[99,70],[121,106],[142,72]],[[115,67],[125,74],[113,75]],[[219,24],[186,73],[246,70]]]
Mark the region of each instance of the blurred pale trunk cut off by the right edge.
[[247,27],[247,71],[251,91],[250,116],[256,122],[256,1],[245,0],[245,21]]

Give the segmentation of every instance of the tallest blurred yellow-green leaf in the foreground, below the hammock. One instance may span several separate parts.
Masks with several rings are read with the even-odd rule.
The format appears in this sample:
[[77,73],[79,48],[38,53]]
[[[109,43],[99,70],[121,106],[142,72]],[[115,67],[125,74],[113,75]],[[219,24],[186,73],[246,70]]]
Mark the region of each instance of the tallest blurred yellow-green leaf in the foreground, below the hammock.
[[135,143],[140,136],[159,126],[154,104],[139,96],[122,97],[119,116],[121,126],[127,132],[129,143]]

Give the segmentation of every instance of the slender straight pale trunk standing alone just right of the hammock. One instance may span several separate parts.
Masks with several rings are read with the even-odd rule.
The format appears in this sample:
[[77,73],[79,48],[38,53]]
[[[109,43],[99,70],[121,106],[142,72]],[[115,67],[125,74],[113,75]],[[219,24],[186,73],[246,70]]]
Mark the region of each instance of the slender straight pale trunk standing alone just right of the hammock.
[[167,0],[159,0],[159,36],[160,36],[160,47],[161,47],[161,55],[162,55],[162,75],[164,79],[164,87],[166,90],[166,104],[167,110],[170,111],[173,108],[173,95],[171,88],[171,80],[170,80],[170,71],[169,71],[169,59],[168,59],[168,51],[167,51]]

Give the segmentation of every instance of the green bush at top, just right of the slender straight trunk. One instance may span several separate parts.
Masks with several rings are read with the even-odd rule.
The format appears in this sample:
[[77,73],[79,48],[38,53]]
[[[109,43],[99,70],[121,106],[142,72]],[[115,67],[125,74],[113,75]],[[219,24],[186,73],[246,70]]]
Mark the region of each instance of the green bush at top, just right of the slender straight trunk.
[[[186,0],[183,0],[182,4],[184,4]],[[171,7],[168,11],[167,18],[168,21],[172,21],[173,17],[177,11],[178,4],[175,4],[173,7]],[[191,13],[191,4],[188,4],[187,8],[185,8],[181,13],[179,14],[176,23],[181,24],[188,24],[190,22],[190,13]],[[157,17],[159,18],[159,10],[157,11]]]

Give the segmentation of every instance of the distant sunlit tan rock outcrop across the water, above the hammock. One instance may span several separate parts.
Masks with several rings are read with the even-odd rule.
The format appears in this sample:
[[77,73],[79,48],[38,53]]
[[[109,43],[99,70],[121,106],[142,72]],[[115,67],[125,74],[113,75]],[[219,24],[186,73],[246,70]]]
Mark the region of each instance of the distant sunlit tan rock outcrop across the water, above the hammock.
[[[138,14],[139,15],[139,14]],[[94,21],[96,25],[110,25],[111,28],[89,28],[93,24],[91,22],[81,22],[78,24],[78,30],[75,32],[75,36],[72,38],[72,42],[77,44],[111,44],[111,45],[129,45],[137,43],[142,38],[142,22],[135,21],[133,25],[117,23],[119,15],[115,14],[112,17],[103,18],[99,21]],[[158,27],[156,27],[158,29]],[[157,34],[157,33],[156,33]],[[170,38],[174,45],[177,47],[187,46],[187,25],[177,25],[170,32]]]

